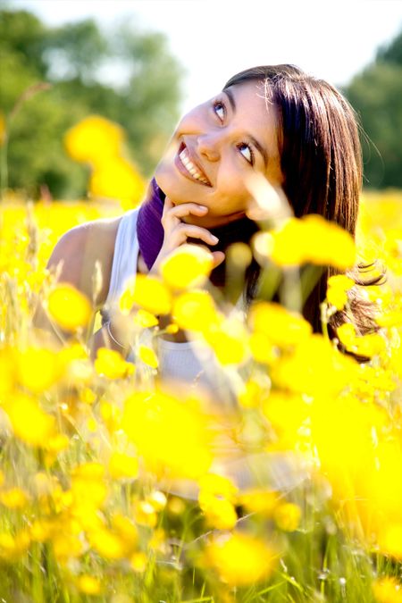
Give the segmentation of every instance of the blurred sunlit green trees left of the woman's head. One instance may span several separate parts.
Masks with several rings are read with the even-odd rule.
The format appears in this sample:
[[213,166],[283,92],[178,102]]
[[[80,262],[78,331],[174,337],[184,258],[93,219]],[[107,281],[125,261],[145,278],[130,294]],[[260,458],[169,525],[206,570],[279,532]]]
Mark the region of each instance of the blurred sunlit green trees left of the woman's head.
[[[127,79],[113,88],[100,72],[116,63]],[[41,186],[59,198],[84,194],[87,169],[65,154],[63,135],[89,113],[121,124],[127,154],[146,176],[178,119],[181,68],[159,33],[124,26],[106,38],[92,20],[47,28],[27,11],[4,9],[0,70],[0,112],[9,135],[3,180],[29,196]],[[22,103],[21,95],[40,82],[50,87],[31,89]]]

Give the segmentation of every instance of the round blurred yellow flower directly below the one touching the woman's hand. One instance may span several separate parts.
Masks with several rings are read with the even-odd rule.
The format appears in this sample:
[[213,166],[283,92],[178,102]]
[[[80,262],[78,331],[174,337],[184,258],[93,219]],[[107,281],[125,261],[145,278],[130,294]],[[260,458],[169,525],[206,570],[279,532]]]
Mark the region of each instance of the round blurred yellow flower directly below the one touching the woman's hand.
[[172,315],[180,329],[190,331],[205,331],[219,320],[214,299],[202,289],[185,291],[176,297]]

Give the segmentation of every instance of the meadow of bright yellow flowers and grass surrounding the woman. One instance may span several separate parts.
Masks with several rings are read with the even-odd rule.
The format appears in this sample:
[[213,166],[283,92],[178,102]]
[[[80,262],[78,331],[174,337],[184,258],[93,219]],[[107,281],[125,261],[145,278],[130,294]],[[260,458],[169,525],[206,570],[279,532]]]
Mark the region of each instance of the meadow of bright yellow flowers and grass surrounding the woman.
[[[71,156],[86,161],[82,148]],[[98,197],[115,181],[106,163]],[[244,320],[203,286],[208,257],[185,248],[121,297],[138,364],[107,348],[92,362],[99,316],[46,262],[63,232],[143,194],[137,175],[121,181],[121,203],[10,193],[0,206],[1,600],[402,602],[402,194],[364,193],[356,245],[315,216],[255,240],[265,292],[278,273],[297,289],[306,264],[386,270],[361,288],[379,331],[346,323],[348,354],[325,325],[348,311],[350,279],[331,277],[314,334],[286,296]],[[250,250],[235,251],[239,280]],[[35,327],[39,301],[59,338]],[[163,388],[163,314],[214,349],[235,404]]]

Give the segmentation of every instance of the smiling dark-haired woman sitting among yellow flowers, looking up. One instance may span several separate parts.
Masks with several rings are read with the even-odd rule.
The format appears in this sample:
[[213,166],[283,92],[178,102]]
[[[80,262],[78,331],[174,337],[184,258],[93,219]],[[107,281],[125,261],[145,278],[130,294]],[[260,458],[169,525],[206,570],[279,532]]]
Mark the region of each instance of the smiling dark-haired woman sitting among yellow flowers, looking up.
[[[249,241],[257,230],[247,217],[255,204],[247,186],[254,174],[282,188],[297,217],[321,214],[354,235],[362,161],[356,116],[345,98],[292,65],[240,72],[219,95],[182,118],[139,210],[70,230],[48,265],[62,263],[59,279],[107,309],[128,277],[157,272],[163,258],[189,240],[211,249],[216,266],[211,280],[220,286],[225,248]],[[96,262],[102,286],[95,290]],[[322,273],[304,308],[315,331],[328,273]],[[257,277],[253,262],[247,271],[248,300]],[[353,298],[351,303],[361,332],[371,328],[367,307]],[[104,312],[94,353],[105,345],[127,351],[113,320]],[[338,313],[333,327],[342,320]],[[173,339],[182,348],[163,351],[165,373],[192,381],[202,366],[183,334]]]

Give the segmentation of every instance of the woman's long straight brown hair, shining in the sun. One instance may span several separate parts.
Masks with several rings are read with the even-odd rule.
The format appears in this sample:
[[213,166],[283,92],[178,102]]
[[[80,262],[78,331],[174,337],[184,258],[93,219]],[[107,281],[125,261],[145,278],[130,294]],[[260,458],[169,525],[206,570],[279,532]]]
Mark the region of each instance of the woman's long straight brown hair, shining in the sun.
[[[289,64],[241,71],[223,89],[250,80],[261,84],[265,98],[278,111],[282,188],[294,214],[320,214],[355,236],[363,170],[359,125],[352,106],[327,81]],[[303,313],[314,331],[321,331],[320,304],[328,277],[336,272],[324,267],[306,300]],[[358,284],[380,280],[362,281],[358,267],[351,275]],[[375,329],[373,306],[357,290],[350,301],[358,330]],[[344,313],[332,318],[332,335],[345,320]]]

